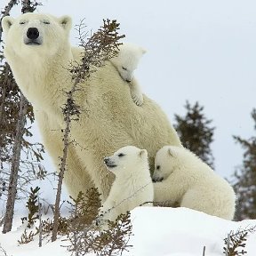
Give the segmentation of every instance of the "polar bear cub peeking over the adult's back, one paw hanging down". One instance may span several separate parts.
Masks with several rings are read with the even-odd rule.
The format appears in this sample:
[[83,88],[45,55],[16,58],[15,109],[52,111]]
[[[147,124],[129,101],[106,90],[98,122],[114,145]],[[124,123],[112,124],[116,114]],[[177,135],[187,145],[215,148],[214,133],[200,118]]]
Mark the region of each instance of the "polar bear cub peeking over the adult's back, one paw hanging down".
[[143,95],[140,84],[133,77],[133,72],[138,67],[140,58],[145,52],[140,46],[124,43],[119,46],[119,52],[116,57],[109,59],[120,76],[129,83],[132,100],[138,106],[141,106],[143,103]]

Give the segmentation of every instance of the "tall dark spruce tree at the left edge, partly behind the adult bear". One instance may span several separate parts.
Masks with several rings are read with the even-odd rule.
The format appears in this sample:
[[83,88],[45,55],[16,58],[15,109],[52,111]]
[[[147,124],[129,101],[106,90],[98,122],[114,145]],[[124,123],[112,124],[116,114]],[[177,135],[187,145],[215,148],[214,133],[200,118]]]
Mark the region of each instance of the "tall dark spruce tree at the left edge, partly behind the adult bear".
[[[0,20],[10,15],[17,4],[21,4],[22,13],[33,12],[38,5],[36,1],[11,0],[1,12]],[[45,171],[39,164],[43,159],[43,145],[26,140],[26,136],[32,136],[26,125],[34,122],[33,108],[20,92],[10,66],[4,61],[2,31],[0,24],[0,196],[7,190],[3,228],[6,233],[12,229],[17,191],[26,188],[31,180],[44,178]],[[21,151],[27,155],[25,160],[20,157]]]

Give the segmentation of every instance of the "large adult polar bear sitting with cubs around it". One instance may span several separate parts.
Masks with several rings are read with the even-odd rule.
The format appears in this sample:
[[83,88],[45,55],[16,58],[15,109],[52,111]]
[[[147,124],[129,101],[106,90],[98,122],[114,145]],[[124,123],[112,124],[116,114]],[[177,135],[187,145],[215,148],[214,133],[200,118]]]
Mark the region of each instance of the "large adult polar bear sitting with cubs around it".
[[[4,17],[2,25],[4,56],[34,107],[44,146],[58,166],[65,127],[61,107],[66,101],[64,91],[73,84],[68,71],[74,60],[68,38],[71,19],[26,13],[17,19]],[[104,166],[104,156],[126,145],[146,148],[153,171],[156,151],[164,145],[180,146],[180,140],[154,101],[144,96],[141,107],[133,103],[129,86],[109,61],[81,86],[75,100],[82,113],[79,122],[72,122],[70,132],[78,145],[68,148],[64,181],[71,196],[94,183],[105,200],[114,177]]]

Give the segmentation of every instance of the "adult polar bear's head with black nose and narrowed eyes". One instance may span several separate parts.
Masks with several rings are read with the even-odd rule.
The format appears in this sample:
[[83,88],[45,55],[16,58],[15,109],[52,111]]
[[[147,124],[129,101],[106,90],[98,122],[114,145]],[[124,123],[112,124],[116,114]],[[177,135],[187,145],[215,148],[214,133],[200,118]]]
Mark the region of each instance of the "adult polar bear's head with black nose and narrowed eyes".
[[36,53],[53,55],[68,42],[71,18],[25,13],[17,19],[4,17],[2,26],[6,50],[18,56],[29,54],[33,58],[31,54]]

